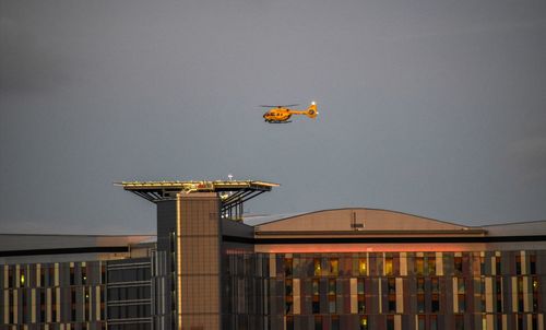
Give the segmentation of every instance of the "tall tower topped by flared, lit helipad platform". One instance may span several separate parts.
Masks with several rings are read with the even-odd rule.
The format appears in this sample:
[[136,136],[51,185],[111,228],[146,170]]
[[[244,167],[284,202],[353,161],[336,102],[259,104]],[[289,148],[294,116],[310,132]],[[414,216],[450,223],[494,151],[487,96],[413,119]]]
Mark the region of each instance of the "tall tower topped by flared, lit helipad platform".
[[121,182],[157,205],[152,262],[155,329],[222,329],[223,222],[277,185],[263,181]]

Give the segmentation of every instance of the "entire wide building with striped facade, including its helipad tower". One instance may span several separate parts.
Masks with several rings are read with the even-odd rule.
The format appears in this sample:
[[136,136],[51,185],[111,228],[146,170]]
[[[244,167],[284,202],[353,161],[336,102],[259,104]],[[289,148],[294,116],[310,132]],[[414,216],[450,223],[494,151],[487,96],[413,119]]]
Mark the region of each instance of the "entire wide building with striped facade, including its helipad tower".
[[546,222],[242,219],[275,185],[121,185],[157,205],[155,241],[0,243],[0,329],[545,329]]

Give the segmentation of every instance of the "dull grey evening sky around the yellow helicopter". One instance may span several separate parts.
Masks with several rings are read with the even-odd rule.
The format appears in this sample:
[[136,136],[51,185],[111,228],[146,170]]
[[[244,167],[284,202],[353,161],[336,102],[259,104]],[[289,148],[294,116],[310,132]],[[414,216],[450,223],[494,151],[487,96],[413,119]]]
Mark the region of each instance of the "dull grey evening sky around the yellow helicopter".
[[545,1],[0,5],[0,232],[153,233],[112,181],[229,173],[282,184],[251,213],[546,219]]

